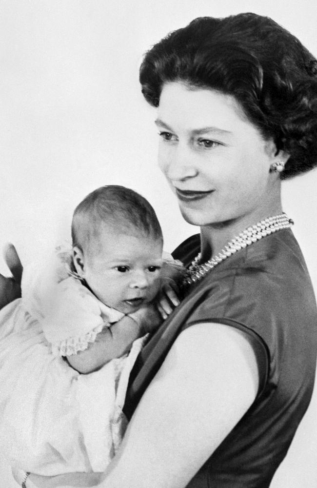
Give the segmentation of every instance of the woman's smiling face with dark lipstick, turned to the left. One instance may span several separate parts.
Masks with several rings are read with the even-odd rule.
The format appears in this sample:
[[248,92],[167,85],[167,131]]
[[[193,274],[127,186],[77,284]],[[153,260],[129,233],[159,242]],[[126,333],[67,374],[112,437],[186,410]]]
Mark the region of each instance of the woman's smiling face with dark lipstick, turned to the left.
[[187,222],[208,225],[245,216],[250,220],[275,211],[279,180],[270,166],[281,158],[275,157],[275,144],[263,140],[234,97],[166,83],[156,124],[158,163]]

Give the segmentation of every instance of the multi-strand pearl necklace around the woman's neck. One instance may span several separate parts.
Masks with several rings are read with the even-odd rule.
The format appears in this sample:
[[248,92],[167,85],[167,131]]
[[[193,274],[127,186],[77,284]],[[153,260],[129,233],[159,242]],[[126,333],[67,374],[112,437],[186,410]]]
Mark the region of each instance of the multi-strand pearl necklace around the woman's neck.
[[188,272],[184,277],[182,286],[192,285],[201,280],[211,269],[217,264],[221,263],[225,259],[229,258],[232,254],[253,244],[265,236],[276,232],[277,230],[287,229],[294,224],[292,219],[289,219],[285,213],[275,215],[274,217],[268,217],[261,220],[258,224],[252,225],[243,230],[238,236],[234,237],[227,245],[215,256],[206,263],[200,264],[201,253],[196,256],[192,264],[188,268]]

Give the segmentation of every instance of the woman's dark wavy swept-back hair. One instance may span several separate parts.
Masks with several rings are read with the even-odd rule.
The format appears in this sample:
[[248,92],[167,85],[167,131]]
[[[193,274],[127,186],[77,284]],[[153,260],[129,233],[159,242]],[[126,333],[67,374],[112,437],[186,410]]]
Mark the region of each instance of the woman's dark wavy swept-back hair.
[[290,157],[281,178],[317,165],[317,61],[268,17],[199,17],[155,44],[140,67],[142,93],[158,106],[163,84],[185,82],[235,97],[265,139]]

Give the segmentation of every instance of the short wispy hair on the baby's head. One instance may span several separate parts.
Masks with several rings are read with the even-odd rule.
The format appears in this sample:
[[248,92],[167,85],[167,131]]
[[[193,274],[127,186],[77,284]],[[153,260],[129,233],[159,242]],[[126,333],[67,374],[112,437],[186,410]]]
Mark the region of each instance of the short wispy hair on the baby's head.
[[76,207],[72,221],[73,246],[81,250],[98,237],[102,224],[122,233],[138,233],[163,241],[152,205],[139,193],[120,185],[106,185],[87,195]]

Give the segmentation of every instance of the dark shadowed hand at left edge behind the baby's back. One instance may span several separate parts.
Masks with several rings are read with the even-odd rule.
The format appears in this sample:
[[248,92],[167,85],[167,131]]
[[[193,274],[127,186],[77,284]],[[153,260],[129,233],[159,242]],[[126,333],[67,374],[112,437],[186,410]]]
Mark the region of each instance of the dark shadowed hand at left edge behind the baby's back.
[[13,244],[5,246],[4,259],[13,276],[7,278],[0,274],[0,308],[21,296],[20,284],[23,267]]

